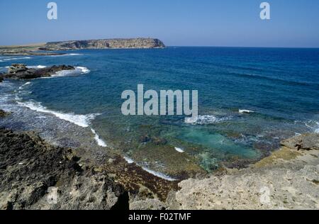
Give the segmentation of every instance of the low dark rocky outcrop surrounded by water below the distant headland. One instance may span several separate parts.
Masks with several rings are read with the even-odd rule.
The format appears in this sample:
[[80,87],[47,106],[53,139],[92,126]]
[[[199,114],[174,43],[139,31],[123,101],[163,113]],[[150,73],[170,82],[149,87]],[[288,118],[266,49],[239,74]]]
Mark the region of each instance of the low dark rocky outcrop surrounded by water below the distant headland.
[[69,65],[54,65],[41,69],[30,69],[23,64],[13,64],[9,67],[8,73],[4,74],[3,77],[7,79],[36,79],[40,77],[51,77],[63,70],[74,70],[74,67]]

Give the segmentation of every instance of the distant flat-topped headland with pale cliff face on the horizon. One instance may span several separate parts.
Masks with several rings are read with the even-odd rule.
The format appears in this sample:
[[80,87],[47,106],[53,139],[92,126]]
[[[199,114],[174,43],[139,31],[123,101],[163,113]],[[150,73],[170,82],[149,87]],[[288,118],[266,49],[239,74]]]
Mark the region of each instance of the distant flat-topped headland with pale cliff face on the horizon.
[[163,48],[161,40],[153,38],[105,39],[105,40],[71,40],[50,42],[40,50],[77,50],[77,49],[108,49],[108,48]]

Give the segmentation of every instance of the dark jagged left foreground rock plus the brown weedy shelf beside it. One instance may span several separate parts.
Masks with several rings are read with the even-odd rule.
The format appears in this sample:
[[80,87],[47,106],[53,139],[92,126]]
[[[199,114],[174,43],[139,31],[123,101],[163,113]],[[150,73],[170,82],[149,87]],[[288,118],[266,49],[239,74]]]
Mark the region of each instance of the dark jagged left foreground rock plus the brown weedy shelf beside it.
[[177,181],[155,177],[119,155],[98,163],[83,151],[0,128],[0,209],[129,209],[136,200],[155,201],[159,208],[177,191]]

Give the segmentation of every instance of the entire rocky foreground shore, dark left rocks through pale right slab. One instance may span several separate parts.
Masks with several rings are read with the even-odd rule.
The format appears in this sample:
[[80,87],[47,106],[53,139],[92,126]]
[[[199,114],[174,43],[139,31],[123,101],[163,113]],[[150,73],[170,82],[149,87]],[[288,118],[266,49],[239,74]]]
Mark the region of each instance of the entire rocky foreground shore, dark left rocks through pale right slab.
[[[3,114],[10,116],[10,113]],[[114,206],[137,210],[319,208],[316,193],[319,180],[318,134],[285,140],[281,142],[280,150],[245,169],[224,167],[214,174],[196,179],[167,181],[111,151],[108,151],[108,157],[103,153],[97,161],[91,152],[50,145],[33,132],[1,129],[0,133],[1,150],[6,150],[6,159],[1,165],[4,177],[1,182],[1,209],[113,209]],[[19,157],[11,156],[17,150],[16,142],[22,145],[18,149],[21,150]],[[30,155],[27,150],[34,152]],[[101,151],[96,150],[99,155]],[[47,155],[50,157],[47,158]],[[67,166],[59,169],[47,167],[52,163],[57,167],[60,164]],[[33,172],[21,172],[26,167],[32,167]],[[54,181],[48,184],[47,180],[35,179],[33,173],[41,170],[49,174],[55,171]],[[21,174],[16,177],[16,172]],[[13,184],[16,180],[8,177],[18,178],[19,184]],[[47,174],[40,177],[46,179]],[[26,184],[24,181],[28,182],[28,188],[21,189]],[[59,189],[60,201],[57,204],[47,203],[52,187]],[[99,191],[92,192],[96,188]],[[268,196],[270,201],[267,197],[266,201],[262,201],[263,196]],[[103,201],[102,198],[108,199]]]

